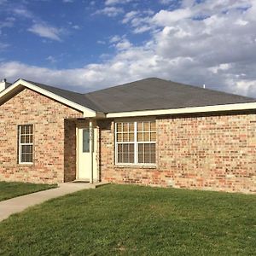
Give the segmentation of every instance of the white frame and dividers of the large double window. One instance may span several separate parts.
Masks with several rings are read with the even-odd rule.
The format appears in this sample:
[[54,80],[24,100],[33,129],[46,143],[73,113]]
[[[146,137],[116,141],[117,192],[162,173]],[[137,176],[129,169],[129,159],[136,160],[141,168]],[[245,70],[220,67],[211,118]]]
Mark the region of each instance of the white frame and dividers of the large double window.
[[[155,163],[139,163],[138,162],[138,154],[137,154],[137,148],[138,148],[138,144],[142,143],[142,144],[151,144],[151,143],[155,143],[156,145],[156,140],[154,142],[137,142],[137,122],[140,121],[155,121],[155,120],[127,120],[127,121],[119,121],[116,120],[114,122],[114,164],[115,166],[156,166],[156,162]],[[125,142],[125,144],[134,144],[134,163],[119,163],[118,162],[118,145],[119,144],[124,144],[124,142],[118,143],[117,142],[117,123],[134,123],[134,142]],[[155,131],[156,132],[156,131]],[[156,152],[155,152],[156,154]]]

